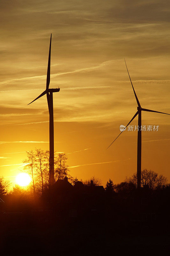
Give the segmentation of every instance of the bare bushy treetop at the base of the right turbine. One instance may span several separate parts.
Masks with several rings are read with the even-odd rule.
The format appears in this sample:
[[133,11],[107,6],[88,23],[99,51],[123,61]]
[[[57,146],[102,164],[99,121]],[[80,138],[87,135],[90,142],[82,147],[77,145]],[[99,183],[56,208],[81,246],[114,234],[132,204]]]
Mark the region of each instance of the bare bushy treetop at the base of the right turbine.
[[[137,173],[134,173],[130,178],[126,178],[127,182],[132,182],[137,185]],[[149,189],[157,189],[167,184],[167,178],[162,174],[158,174],[152,170],[144,169],[141,171],[141,185],[147,185]]]

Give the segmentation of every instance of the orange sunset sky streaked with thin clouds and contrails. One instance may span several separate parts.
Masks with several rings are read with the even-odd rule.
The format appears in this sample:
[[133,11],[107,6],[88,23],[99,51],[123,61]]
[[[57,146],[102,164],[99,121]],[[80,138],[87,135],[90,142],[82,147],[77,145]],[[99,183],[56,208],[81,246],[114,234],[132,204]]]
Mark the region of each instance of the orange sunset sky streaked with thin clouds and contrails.
[[[55,150],[70,153],[70,174],[79,179],[94,175],[105,185],[136,172],[137,131],[125,131],[106,148],[137,111],[124,57],[141,106],[170,113],[169,5],[1,3],[0,176],[14,181],[26,150],[49,147],[46,97],[27,104],[46,87],[50,33],[50,88],[60,86],[53,95]],[[142,132],[142,168],[169,179],[170,117],[143,112],[142,125],[159,125],[158,132]]]

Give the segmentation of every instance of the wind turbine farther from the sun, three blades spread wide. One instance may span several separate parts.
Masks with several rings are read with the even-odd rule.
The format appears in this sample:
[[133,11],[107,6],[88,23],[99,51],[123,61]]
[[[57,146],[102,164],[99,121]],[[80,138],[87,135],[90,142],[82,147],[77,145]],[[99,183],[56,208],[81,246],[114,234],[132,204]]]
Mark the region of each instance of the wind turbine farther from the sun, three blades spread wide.
[[[126,64],[126,61],[125,61],[125,64]],[[126,68],[127,68],[127,65],[126,65]],[[128,68],[127,68],[127,71],[128,71]],[[129,75],[129,71],[128,71],[128,75]],[[130,75],[129,75],[129,78],[130,78]],[[170,114],[167,114],[167,113],[163,113],[163,112],[159,112],[159,111],[155,111],[155,110],[150,110],[150,109],[146,109],[146,108],[142,108],[140,103],[139,103],[139,100],[137,98],[137,95],[136,95],[136,92],[135,92],[135,89],[133,87],[133,84],[132,84],[132,81],[130,79],[130,82],[131,82],[131,85],[132,85],[132,88],[133,88],[133,92],[135,94],[135,98],[136,98],[136,101],[137,101],[137,112],[136,114],[132,117],[132,119],[130,120],[130,122],[126,125],[126,127],[132,122],[132,120],[138,115],[138,132],[137,132],[137,188],[141,188],[141,126],[142,126],[142,120],[141,120],[141,116],[142,116],[142,111],[147,111],[147,112],[156,112],[156,113],[161,113],[161,114],[166,114],[166,115],[170,115]],[[125,128],[124,128],[125,130]],[[124,131],[123,130],[123,131]],[[122,132],[123,132],[122,131]],[[121,133],[122,133],[121,132]],[[121,133],[115,138],[115,140],[121,135]],[[115,141],[114,140],[114,141]],[[113,141],[113,142],[114,142]],[[113,142],[110,144],[110,146],[113,144]],[[109,147],[110,147],[109,146]],[[109,148],[108,147],[108,148]]]

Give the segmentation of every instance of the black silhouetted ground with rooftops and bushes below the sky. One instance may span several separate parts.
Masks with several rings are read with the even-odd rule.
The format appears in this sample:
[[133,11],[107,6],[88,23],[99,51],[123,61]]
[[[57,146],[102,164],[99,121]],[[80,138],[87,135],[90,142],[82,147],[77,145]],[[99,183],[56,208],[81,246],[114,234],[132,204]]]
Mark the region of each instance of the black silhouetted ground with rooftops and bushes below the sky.
[[78,184],[58,181],[34,204],[4,198],[0,255],[169,255],[169,187],[115,194]]

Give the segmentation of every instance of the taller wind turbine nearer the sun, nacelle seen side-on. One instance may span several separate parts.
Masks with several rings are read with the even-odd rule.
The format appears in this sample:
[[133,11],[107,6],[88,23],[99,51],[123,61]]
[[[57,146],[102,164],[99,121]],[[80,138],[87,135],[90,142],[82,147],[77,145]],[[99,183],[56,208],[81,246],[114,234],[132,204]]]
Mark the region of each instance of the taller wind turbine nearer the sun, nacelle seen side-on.
[[[46,90],[42,92],[35,100],[38,100],[43,95],[47,94],[47,103],[49,111],[49,184],[54,184],[54,117],[53,117],[53,92],[59,92],[60,88],[49,89],[50,83],[50,59],[51,59],[51,37],[49,45],[49,55],[48,55],[48,68],[47,68],[47,82]],[[35,101],[33,100],[33,101]],[[29,104],[31,104],[31,101]],[[28,105],[29,105],[28,104]]]

